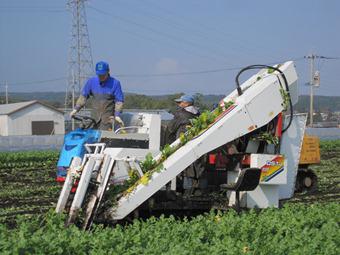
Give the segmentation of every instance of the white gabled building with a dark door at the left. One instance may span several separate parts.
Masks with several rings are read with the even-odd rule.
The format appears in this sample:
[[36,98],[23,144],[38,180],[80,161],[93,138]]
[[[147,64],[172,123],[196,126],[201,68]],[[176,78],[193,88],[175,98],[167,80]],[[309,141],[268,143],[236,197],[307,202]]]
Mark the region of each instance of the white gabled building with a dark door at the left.
[[53,106],[28,101],[0,105],[0,135],[64,134],[64,113]]

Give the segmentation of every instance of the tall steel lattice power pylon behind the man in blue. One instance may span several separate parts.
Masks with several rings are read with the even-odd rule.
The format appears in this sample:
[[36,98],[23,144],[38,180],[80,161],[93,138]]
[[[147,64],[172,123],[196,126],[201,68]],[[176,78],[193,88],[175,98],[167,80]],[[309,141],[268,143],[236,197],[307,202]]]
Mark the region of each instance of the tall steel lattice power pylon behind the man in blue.
[[[80,95],[85,80],[93,75],[93,61],[90,45],[85,2],[68,0],[67,7],[72,14],[71,43],[68,57],[68,85],[65,95],[65,110],[74,109],[75,98]],[[72,122],[74,129],[74,121]]]

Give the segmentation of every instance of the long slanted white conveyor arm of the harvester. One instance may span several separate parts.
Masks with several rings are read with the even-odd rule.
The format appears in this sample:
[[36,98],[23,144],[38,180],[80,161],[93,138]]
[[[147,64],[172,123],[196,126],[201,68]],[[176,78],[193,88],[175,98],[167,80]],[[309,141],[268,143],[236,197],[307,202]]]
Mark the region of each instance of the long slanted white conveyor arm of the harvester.
[[[297,74],[294,63],[286,62],[280,66],[280,70],[286,75],[289,86],[296,86]],[[117,207],[112,210],[112,218],[126,217],[205,153],[268,124],[283,110],[284,102],[280,94],[279,79],[283,84],[280,75],[260,72],[241,85],[243,89],[241,96],[234,90],[225,97],[224,102],[233,101],[234,105],[224,111],[221,118],[204,133],[167,158],[163,162],[164,170],[154,173],[148,185],[140,184],[132,194],[119,199]],[[177,146],[179,143],[180,141],[176,140],[171,146]],[[160,156],[156,156],[155,159]]]

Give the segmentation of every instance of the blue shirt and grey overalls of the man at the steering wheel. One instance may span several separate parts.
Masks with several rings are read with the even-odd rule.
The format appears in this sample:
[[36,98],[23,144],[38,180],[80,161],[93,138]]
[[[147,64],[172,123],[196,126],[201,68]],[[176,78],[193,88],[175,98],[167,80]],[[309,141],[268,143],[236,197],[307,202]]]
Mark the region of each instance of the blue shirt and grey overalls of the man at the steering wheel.
[[100,118],[105,123],[110,116],[114,116],[115,104],[124,102],[120,82],[111,76],[105,82],[100,82],[97,76],[90,78],[83,87],[81,95],[85,100],[80,102],[80,106],[83,106],[81,104],[85,104],[86,99],[90,96],[93,97],[93,116],[97,120]]

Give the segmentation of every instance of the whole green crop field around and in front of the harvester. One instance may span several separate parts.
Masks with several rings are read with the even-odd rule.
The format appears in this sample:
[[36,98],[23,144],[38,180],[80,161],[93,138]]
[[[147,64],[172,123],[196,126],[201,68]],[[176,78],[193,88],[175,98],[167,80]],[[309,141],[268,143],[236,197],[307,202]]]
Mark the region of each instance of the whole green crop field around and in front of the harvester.
[[64,227],[57,152],[0,154],[0,254],[340,254],[340,141],[321,143],[318,190],[281,209]]

